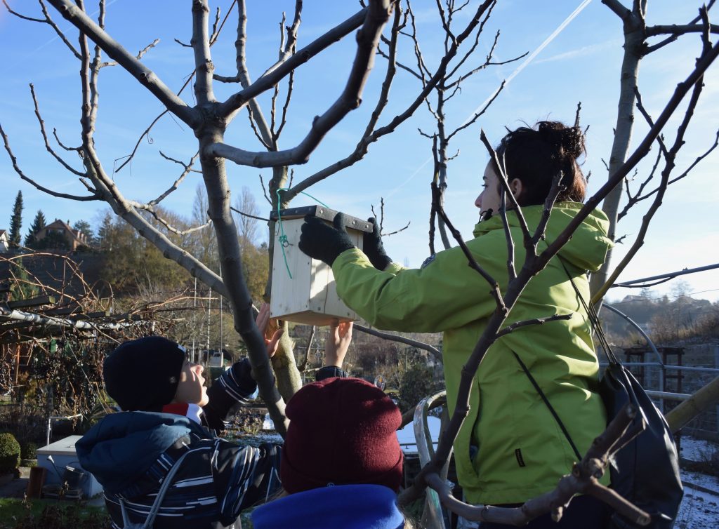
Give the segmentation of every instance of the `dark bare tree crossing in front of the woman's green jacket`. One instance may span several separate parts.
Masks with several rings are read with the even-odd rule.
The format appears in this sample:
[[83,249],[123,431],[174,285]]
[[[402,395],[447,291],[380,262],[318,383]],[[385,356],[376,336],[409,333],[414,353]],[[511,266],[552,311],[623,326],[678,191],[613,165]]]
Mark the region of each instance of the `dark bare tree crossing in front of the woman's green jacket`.
[[[611,454],[616,450],[620,449],[621,446],[626,444],[629,439],[633,438],[638,434],[637,431],[628,431],[627,427],[631,422],[630,417],[633,414],[633,410],[626,410],[626,417],[615,418],[612,424],[608,426],[607,431],[602,436],[597,438],[592,449],[585,454],[585,458],[579,466],[575,466],[572,470],[572,474],[562,479],[557,485],[557,489],[539,498],[528,500],[523,506],[517,507],[516,509],[498,509],[495,507],[485,506],[470,506],[466,505],[459,500],[452,497],[451,492],[447,489],[444,479],[441,479],[441,469],[449,460],[449,456],[452,451],[452,444],[454,439],[459,432],[459,428],[462,426],[464,419],[470,410],[470,387],[472,386],[472,380],[475,377],[480,362],[484,357],[487,349],[501,336],[513,332],[516,328],[526,325],[538,325],[551,321],[552,319],[562,318],[562,316],[549,316],[547,318],[538,318],[532,321],[518,321],[511,324],[510,326],[504,326],[505,319],[508,313],[513,308],[514,304],[518,300],[523,288],[525,287],[528,280],[536,275],[537,272],[542,270],[549,262],[551,257],[557,254],[559,249],[569,240],[572,232],[579,226],[579,224],[587,217],[587,215],[594,209],[600,201],[602,201],[610,192],[615,188],[618,183],[626,178],[634,167],[640,162],[649,152],[651,144],[660,138],[661,130],[666,126],[669,117],[674,114],[677,110],[679,103],[684,99],[687,93],[692,92],[690,98],[690,104],[687,111],[682,119],[682,125],[679,129],[679,141],[683,135],[683,131],[686,128],[686,124],[690,121],[695,103],[692,101],[698,97],[698,93],[701,91],[702,78],[705,70],[713,63],[717,55],[719,55],[719,45],[710,45],[709,42],[709,31],[710,24],[706,16],[706,10],[702,10],[703,24],[702,27],[703,37],[702,42],[702,53],[697,59],[697,64],[692,73],[687,77],[684,82],[679,83],[672,98],[669,99],[664,110],[657,117],[656,121],[653,121],[649,132],[646,134],[644,139],[638,144],[638,147],[634,150],[631,156],[629,156],[623,164],[621,164],[615,172],[610,175],[610,178],[600,190],[592,195],[587,200],[587,203],[582,208],[580,213],[569,223],[566,229],[562,231],[562,234],[557,236],[553,242],[548,242],[548,247],[539,252],[538,244],[541,240],[544,240],[544,229],[546,223],[549,221],[549,213],[551,208],[554,206],[554,201],[560,191],[559,182],[562,178],[562,174],[559,173],[554,179],[554,183],[549,192],[549,196],[546,198],[544,204],[544,215],[539,223],[537,229],[531,233],[529,231],[526,221],[523,220],[521,208],[513,197],[511,190],[508,185],[507,175],[505,175],[503,163],[500,162],[490,143],[487,141],[484,134],[482,134],[482,141],[485,143],[485,147],[490,152],[491,160],[493,160],[493,167],[495,172],[499,175],[501,190],[502,190],[502,207],[500,208],[500,215],[502,216],[503,224],[505,225],[505,232],[508,238],[508,277],[509,282],[505,292],[501,292],[498,282],[491,277],[482,267],[477,263],[472,253],[467,249],[466,245],[462,241],[459,231],[455,230],[452,226],[446,213],[440,208],[438,214],[444,219],[445,223],[449,227],[450,231],[457,239],[460,247],[462,247],[464,254],[467,256],[467,260],[470,263],[470,267],[476,270],[482,277],[487,280],[487,283],[492,288],[492,293],[496,302],[496,309],[492,316],[487,321],[485,331],[480,336],[479,341],[475,345],[472,351],[470,359],[464,364],[462,369],[462,377],[459,385],[459,392],[457,397],[457,404],[455,406],[454,414],[450,420],[449,427],[446,431],[441,433],[439,446],[431,459],[429,464],[423,467],[420,474],[415,480],[413,487],[407,489],[400,495],[400,501],[406,502],[413,500],[418,497],[418,494],[424,489],[424,487],[431,487],[438,492],[442,502],[453,512],[457,512],[464,517],[468,517],[472,520],[481,520],[495,523],[511,523],[514,525],[523,525],[534,517],[544,513],[552,512],[555,520],[559,520],[562,517],[562,510],[569,505],[572,495],[577,493],[592,494],[593,496],[607,502],[615,510],[618,510],[621,514],[625,515],[631,520],[636,520],[636,523],[640,525],[646,525],[649,523],[650,517],[646,512],[638,510],[635,506],[623,500],[618,494],[613,492],[611,489],[607,489],[596,481],[597,477],[603,474],[604,469],[608,464]],[[439,165],[439,155],[436,149],[435,139],[434,149],[434,160],[435,160],[435,172],[437,172],[437,165]],[[671,155],[667,157],[671,160]],[[664,193],[668,185],[667,178],[664,178],[659,184],[659,192]],[[439,190],[435,188],[435,193],[439,193]],[[508,226],[505,201],[511,202],[511,207],[517,211],[518,218],[520,219],[521,231],[523,234],[522,244],[526,252],[526,259],[521,265],[521,269],[517,271],[516,265],[513,262],[511,256],[513,255],[514,242],[511,239],[509,231],[506,230]],[[439,203],[439,202],[438,202]],[[623,426],[622,426],[623,425]],[[604,461],[603,464],[595,465],[590,463],[594,459],[595,461]],[[601,470],[600,470],[601,469]]]

